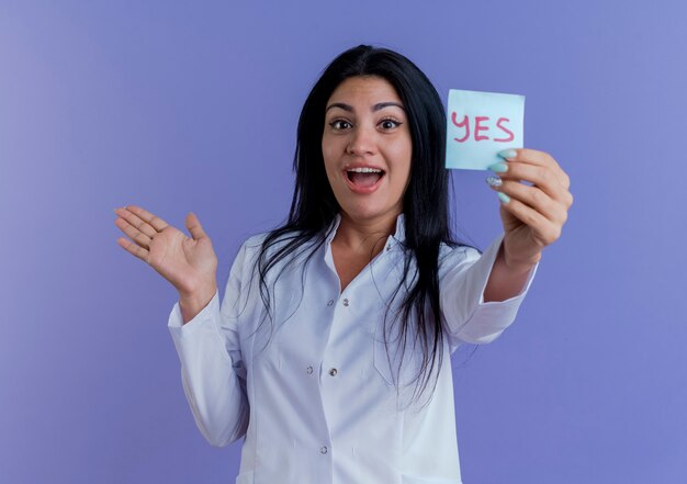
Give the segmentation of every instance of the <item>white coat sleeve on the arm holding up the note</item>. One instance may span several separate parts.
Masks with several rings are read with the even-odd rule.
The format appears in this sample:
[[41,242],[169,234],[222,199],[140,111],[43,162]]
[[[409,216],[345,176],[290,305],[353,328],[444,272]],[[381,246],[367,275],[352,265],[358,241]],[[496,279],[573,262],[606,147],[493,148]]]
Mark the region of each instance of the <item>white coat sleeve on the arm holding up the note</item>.
[[441,309],[448,326],[451,350],[461,342],[487,344],[496,339],[516,318],[532,283],[539,262],[530,270],[519,294],[506,301],[484,302],[484,290],[505,234],[502,233],[480,256],[472,248],[459,248],[461,260],[450,257],[440,280]]

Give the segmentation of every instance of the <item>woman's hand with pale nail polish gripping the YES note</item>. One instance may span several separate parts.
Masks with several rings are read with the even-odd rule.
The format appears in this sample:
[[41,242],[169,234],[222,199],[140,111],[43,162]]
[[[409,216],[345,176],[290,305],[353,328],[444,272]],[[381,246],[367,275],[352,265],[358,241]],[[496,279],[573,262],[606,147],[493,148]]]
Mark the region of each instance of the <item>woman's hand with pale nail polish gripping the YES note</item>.
[[[502,185],[489,184],[506,195],[499,195],[504,257],[511,268],[528,268],[539,261],[544,247],[561,236],[573,204],[570,177],[544,151],[508,149],[502,156],[505,161],[489,167],[500,177]],[[506,171],[498,171],[504,167]]]

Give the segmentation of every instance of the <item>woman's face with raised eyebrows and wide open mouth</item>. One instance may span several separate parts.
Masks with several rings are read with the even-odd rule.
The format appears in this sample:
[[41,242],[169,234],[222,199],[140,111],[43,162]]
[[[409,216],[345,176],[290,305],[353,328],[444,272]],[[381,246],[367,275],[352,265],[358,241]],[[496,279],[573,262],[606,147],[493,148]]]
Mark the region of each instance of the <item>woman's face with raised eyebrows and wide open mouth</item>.
[[352,77],[327,101],[322,153],[341,210],[374,222],[403,212],[413,143],[405,109],[381,77]]

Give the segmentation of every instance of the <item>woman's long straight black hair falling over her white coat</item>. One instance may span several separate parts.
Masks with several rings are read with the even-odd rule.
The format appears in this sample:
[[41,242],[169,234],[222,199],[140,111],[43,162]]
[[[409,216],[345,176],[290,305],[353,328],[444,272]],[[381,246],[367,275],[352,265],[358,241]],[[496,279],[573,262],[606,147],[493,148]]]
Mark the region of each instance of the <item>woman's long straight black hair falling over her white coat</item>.
[[[413,320],[416,324],[413,329],[423,350],[420,370],[415,378],[418,384],[414,396],[418,396],[430,381],[437,360],[440,368],[443,357],[446,336],[442,330],[438,277],[440,246],[442,243],[450,246],[458,243],[453,240],[449,226],[450,177],[443,168],[443,105],[425,74],[403,55],[386,48],[359,45],[335,58],[313,87],[299,120],[293,161],[296,179],[289,218],[284,225],[267,235],[259,254],[257,269],[260,295],[269,314],[268,272],[280,261],[290,261],[290,256],[301,248],[305,248],[306,252],[304,268],[325,243],[327,227],[331,226],[340,211],[325,172],[322,153],[325,109],[335,89],[344,80],[357,76],[378,76],[388,81],[398,93],[408,119],[413,155],[409,183],[403,199],[405,263],[403,279],[392,299],[404,284],[408,288],[394,320],[401,324],[402,360],[407,335],[413,334],[410,325]],[[409,274],[413,262],[415,269]],[[432,393],[435,386],[436,379]]]

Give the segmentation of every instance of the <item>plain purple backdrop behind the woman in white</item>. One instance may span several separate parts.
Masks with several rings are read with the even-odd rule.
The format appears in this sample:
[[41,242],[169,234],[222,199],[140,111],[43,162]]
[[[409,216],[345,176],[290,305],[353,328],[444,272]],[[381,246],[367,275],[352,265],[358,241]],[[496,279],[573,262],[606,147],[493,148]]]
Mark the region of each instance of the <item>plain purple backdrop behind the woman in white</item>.
[[[575,203],[516,324],[454,358],[466,484],[687,482],[687,4],[0,2],[0,482],[233,483],[167,329],[177,294],[115,239],[195,212],[223,290],[282,221],[302,103],[359,43],[450,88],[527,95]],[[257,2],[256,2],[257,3]],[[500,232],[486,172],[454,212]]]

